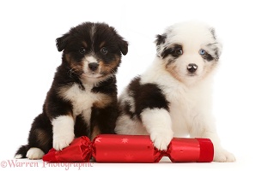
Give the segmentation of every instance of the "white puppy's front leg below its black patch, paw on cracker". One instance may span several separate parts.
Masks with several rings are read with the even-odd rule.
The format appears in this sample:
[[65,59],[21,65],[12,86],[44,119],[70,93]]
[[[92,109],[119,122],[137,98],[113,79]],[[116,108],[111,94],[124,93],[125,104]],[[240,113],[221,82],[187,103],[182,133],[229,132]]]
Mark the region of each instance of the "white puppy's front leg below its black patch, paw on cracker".
[[141,118],[155,147],[159,150],[167,150],[168,144],[174,137],[168,111],[166,109],[143,109]]

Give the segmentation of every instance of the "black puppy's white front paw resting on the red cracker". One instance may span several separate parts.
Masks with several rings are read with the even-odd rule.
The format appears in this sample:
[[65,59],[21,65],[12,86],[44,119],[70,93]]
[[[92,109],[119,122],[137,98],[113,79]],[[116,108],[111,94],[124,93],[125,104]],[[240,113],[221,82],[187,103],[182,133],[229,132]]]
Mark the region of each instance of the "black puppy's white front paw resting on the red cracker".
[[73,141],[74,138],[75,138],[74,133],[55,136],[53,137],[53,148],[55,150],[63,150],[65,147],[70,145],[70,143]]

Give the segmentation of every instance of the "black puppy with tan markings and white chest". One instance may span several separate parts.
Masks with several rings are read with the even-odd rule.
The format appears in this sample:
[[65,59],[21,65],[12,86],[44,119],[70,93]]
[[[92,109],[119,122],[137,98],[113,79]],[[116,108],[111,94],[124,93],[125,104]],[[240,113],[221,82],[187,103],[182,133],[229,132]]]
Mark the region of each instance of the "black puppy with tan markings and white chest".
[[15,158],[40,159],[52,147],[62,150],[75,137],[114,133],[118,116],[117,69],[128,43],[105,23],[85,22],[57,38],[62,63],[42,114],[32,124],[28,144]]

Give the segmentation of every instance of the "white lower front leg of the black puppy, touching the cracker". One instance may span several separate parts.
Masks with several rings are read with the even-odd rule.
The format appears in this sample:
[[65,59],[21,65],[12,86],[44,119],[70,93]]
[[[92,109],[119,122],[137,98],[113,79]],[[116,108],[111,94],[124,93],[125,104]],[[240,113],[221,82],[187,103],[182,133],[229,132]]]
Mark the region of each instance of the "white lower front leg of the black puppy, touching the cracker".
[[75,138],[75,121],[70,115],[60,115],[52,120],[53,148],[62,150]]

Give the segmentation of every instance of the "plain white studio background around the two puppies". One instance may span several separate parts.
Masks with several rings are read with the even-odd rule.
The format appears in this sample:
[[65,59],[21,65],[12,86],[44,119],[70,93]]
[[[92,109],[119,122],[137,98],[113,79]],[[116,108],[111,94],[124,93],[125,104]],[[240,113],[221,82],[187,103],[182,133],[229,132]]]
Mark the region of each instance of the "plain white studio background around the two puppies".
[[84,21],[107,22],[129,42],[129,52],[123,56],[118,74],[119,91],[122,91],[131,78],[141,74],[153,61],[156,34],[175,22],[198,20],[215,27],[223,44],[221,66],[215,77],[214,113],[222,145],[235,154],[237,162],[95,163],[93,168],[83,169],[256,168],[253,164],[256,159],[255,16],[256,5],[248,0],[1,1],[0,162],[11,160],[15,150],[27,143],[30,125],[41,112],[53,74],[61,62],[55,39],[70,27]]

